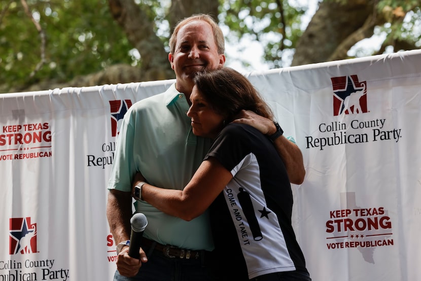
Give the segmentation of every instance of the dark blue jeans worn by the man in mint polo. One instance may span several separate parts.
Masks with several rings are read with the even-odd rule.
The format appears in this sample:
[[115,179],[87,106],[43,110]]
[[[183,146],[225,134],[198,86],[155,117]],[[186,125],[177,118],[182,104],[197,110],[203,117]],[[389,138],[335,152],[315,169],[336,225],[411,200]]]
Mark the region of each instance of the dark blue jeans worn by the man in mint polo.
[[[146,251],[148,253],[148,251]],[[213,281],[219,280],[212,273],[212,258],[203,259],[167,258],[159,251],[148,255],[148,262],[143,263],[134,277],[121,276],[118,270],[114,281]]]

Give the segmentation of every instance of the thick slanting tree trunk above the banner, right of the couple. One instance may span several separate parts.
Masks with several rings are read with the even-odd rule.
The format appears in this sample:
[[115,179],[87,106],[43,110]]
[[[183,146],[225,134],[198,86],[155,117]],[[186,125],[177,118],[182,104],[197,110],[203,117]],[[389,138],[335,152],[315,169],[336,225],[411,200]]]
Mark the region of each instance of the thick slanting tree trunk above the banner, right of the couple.
[[372,0],[320,3],[297,42],[291,66],[345,59],[349,48],[371,37],[375,24],[381,21],[374,3]]

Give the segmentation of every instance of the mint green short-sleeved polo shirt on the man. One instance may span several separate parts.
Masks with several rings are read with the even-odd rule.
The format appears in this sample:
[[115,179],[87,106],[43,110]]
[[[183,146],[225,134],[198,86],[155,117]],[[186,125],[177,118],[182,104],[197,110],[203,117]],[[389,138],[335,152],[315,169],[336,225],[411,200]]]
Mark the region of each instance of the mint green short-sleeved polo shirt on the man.
[[[108,189],[131,191],[131,179],[141,171],[152,185],[182,190],[211,145],[210,139],[193,134],[188,110],[175,84],[134,103],[120,128]],[[187,222],[145,201],[136,201],[135,208],[148,219],[145,237],[184,249],[214,249],[207,212]]]

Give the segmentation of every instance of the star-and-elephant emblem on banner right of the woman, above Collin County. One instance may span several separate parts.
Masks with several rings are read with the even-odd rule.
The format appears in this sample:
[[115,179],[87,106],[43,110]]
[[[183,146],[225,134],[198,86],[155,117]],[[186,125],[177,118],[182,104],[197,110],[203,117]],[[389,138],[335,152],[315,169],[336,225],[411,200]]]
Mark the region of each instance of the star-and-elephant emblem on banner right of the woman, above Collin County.
[[367,82],[357,75],[332,77],[333,115],[367,113]]

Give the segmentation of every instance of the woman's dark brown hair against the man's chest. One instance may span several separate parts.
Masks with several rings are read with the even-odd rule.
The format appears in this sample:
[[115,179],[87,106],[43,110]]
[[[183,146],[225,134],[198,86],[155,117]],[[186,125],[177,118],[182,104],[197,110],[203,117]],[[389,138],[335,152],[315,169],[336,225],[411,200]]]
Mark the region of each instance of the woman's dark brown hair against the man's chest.
[[227,122],[234,120],[241,110],[251,110],[273,120],[273,113],[252,83],[230,67],[197,73],[197,89]]

